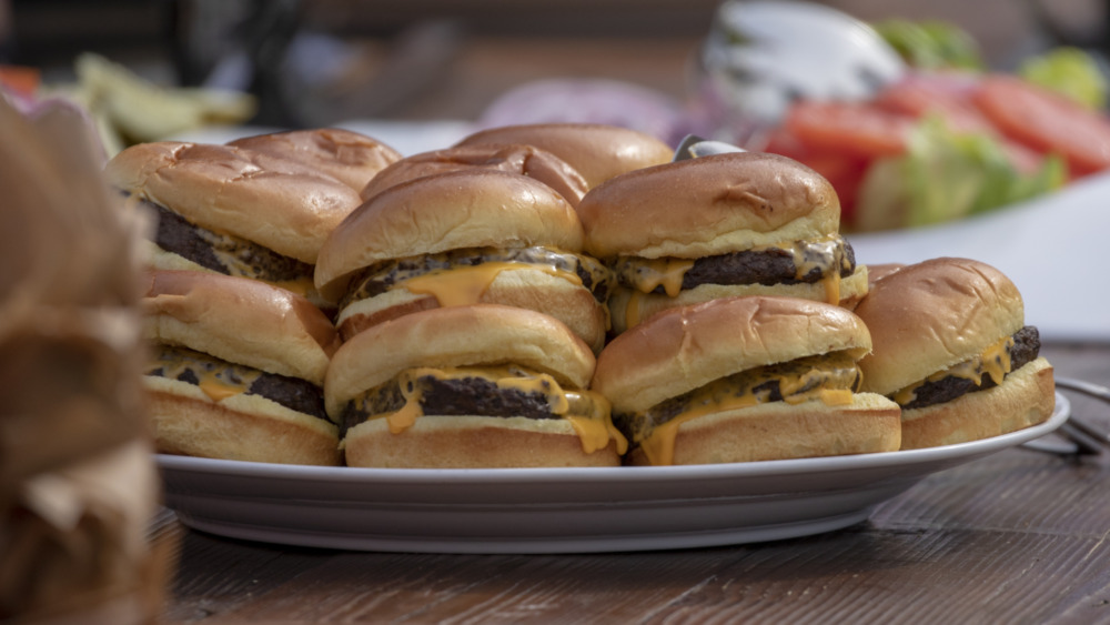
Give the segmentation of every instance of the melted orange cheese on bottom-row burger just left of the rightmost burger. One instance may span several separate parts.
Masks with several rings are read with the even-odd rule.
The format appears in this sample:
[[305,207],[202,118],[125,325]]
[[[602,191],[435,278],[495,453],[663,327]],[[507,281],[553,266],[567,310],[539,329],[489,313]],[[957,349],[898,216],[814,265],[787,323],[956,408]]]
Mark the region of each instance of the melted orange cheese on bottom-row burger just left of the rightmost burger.
[[[684,423],[770,402],[769,391],[756,390],[770,380],[778,381],[783,401],[791,405],[809,401],[830,406],[848,405],[852,402],[851,386],[858,382],[858,369],[846,354],[830,354],[827,360],[828,369],[816,369],[815,360],[805,359],[710,382],[689,394],[685,410],[664,423],[634,434],[633,441],[640,445],[650,464],[674,464],[675,438]],[[644,417],[636,415],[634,419]]]

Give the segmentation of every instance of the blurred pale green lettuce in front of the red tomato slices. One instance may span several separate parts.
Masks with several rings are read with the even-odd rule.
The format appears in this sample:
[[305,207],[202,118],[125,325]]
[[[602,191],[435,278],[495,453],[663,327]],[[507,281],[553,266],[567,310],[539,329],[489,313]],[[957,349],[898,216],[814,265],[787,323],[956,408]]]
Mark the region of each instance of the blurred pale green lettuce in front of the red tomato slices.
[[860,230],[912,228],[988,212],[1059,189],[1063,161],[1047,157],[1032,174],[1019,172],[998,141],[955,133],[927,115],[911,133],[906,154],[876,161],[860,190]]

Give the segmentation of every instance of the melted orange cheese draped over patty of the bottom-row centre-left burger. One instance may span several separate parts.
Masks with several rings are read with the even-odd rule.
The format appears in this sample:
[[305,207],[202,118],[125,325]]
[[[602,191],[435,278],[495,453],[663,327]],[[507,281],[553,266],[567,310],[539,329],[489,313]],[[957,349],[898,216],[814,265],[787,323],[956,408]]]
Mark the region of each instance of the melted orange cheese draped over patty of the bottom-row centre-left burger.
[[552,414],[566,420],[574,429],[583,452],[588,454],[603,450],[610,441],[616,445],[617,453],[623,454],[627,451],[628,442],[613,425],[609,403],[605,397],[591,391],[564,391],[555,379],[546,373],[527,375],[521,373],[522,370],[511,370],[508,366],[406,370],[397,380],[404,405],[395,412],[374,415],[371,419],[385,419],[390,432],[401,434],[423,415],[420,401],[423,387],[418,383],[421,377],[433,376],[440,380],[484,377],[502,389],[544,395]]

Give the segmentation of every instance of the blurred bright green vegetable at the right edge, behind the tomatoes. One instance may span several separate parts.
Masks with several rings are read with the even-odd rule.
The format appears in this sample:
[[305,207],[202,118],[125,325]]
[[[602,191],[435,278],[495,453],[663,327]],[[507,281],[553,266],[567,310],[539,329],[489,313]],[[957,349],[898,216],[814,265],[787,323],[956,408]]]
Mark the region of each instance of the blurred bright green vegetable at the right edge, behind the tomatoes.
[[1057,48],[1021,63],[1018,74],[1091,110],[1107,104],[1107,79],[1093,57],[1078,48]]

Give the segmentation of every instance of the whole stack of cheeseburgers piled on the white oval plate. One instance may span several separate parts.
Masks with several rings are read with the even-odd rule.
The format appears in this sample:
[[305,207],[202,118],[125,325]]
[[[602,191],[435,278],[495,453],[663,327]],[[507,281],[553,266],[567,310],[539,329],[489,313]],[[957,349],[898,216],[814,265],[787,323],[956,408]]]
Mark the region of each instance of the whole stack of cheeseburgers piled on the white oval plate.
[[160,450],[696,464],[950,444],[1050,414],[1051,367],[997,271],[948,259],[869,283],[816,172],[673,155],[592,124],[405,158],[335,130],[122,152],[109,180],[161,216]]

